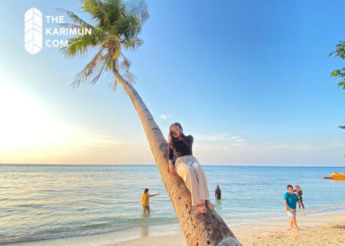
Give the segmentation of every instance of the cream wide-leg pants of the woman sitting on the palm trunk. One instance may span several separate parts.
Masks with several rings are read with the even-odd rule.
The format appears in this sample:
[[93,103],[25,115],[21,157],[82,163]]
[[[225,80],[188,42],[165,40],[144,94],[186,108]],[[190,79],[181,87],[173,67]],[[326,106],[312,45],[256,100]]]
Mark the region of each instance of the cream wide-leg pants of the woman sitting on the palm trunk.
[[178,157],[175,162],[175,169],[192,194],[192,206],[209,200],[206,175],[197,158],[193,155]]

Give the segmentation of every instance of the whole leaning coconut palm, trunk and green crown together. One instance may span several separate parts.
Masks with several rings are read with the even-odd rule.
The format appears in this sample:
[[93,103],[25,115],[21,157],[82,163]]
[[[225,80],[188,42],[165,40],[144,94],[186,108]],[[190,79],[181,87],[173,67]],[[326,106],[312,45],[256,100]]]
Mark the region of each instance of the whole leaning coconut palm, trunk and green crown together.
[[183,180],[168,172],[167,141],[133,87],[136,76],[130,72],[131,62],[122,51],[123,49],[135,51],[143,44],[139,34],[142,25],[149,18],[146,0],[79,0],[79,2],[81,11],[91,15],[91,23],[87,23],[69,10],[55,9],[61,14],[66,14],[72,21],[72,24],[61,24],[60,28],[92,30],[90,35],[78,35],[68,39],[69,46],[60,48],[65,58],[82,57],[90,49],[97,49],[91,61],[75,75],[71,87],[94,85],[104,71],[111,72],[114,75],[111,88],[115,90],[117,84],[120,84],[138,112],[188,245],[240,246],[229,227],[214,210],[202,215],[191,207],[191,195]]

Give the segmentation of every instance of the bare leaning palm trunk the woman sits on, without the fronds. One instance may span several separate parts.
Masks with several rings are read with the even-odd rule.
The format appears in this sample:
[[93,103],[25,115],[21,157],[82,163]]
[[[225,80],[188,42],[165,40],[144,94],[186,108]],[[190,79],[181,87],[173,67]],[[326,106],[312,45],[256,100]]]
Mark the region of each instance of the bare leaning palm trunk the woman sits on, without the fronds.
[[[115,67],[115,65],[113,66]],[[183,180],[168,171],[168,143],[138,92],[113,69],[118,83],[130,96],[144,127],[151,152],[155,158],[163,184],[171,198],[189,246],[242,246],[223,219],[214,211],[202,215],[191,206],[191,194]]]

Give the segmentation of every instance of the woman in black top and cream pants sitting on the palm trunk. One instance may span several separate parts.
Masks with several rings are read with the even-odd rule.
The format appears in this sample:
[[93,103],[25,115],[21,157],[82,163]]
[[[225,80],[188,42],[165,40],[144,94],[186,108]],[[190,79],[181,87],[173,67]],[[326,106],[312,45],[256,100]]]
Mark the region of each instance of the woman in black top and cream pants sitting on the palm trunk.
[[[168,138],[169,172],[177,173],[183,179],[192,194],[192,206],[197,206],[199,213],[205,214],[207,208],[214,209],[215,205],[209,201],[204,169],[193,156],[193,136],[184,135],[181,124],[173,123],[170,126]],[[174,153],[177,157],[175,163],[173,163]]]

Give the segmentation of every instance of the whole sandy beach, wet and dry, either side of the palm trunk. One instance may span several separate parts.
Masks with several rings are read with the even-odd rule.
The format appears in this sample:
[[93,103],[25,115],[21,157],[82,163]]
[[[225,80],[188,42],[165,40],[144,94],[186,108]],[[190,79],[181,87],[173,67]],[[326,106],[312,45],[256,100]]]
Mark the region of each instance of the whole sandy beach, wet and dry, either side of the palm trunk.
[[[286,217],[231,226],[230,229],[243,246],[341,246],[345,244],[344,210],[342,214],[320,213],[297,216],[301,231],[287,230],[288,221]],[[163,233],[169,235],[162,235]],[[187,246],[187,244],[179,225],[160,225],[91,236],[14,243],[8,246]]]

